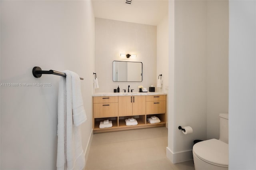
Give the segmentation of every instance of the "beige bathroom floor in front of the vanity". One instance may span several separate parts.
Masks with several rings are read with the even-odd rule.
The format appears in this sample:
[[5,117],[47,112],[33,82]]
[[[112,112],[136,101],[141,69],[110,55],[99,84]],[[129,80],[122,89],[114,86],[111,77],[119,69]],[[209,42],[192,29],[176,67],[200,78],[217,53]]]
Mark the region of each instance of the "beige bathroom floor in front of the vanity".
[[172,164],[166,157],[166,127],[94,134],[86,170],[194,170],[193,161]]

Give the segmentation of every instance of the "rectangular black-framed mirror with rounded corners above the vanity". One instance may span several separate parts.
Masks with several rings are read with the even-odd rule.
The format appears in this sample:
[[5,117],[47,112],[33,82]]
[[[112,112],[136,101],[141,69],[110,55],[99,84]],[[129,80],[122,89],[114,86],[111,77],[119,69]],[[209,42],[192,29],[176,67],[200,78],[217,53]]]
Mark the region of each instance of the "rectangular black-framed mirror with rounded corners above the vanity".
[[113,61],[113,81],[142,81],[142,62]]

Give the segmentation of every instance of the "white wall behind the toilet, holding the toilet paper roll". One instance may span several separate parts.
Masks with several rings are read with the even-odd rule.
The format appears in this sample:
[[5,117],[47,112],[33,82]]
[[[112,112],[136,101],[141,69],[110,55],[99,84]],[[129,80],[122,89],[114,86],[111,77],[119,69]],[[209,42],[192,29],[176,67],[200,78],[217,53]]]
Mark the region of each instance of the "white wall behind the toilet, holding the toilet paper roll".
[[[169,1],[166,155],[173,163],[192,159],[193,140],[218,138],[218,114],[228,107],[226,11],[227,2]],[[193,133],[184,135],[178,126],[191,126]]]

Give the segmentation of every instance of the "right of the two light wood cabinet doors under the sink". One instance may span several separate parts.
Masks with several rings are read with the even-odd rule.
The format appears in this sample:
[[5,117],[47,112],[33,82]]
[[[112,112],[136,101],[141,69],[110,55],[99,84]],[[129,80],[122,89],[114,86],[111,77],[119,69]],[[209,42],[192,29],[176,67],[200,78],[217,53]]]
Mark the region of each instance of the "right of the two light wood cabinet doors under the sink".
[[146,96],[132,96],[132,114],[146,114]]

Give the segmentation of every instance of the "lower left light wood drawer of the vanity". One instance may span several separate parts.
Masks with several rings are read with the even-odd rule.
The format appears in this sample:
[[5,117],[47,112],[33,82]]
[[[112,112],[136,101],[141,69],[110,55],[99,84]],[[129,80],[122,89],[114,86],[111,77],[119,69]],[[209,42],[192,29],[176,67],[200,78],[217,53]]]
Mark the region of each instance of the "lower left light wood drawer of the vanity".
[[93,114],[95,117],[114,117],[118,115],[118,103],[94,103]]

